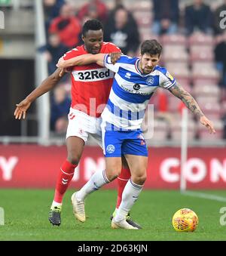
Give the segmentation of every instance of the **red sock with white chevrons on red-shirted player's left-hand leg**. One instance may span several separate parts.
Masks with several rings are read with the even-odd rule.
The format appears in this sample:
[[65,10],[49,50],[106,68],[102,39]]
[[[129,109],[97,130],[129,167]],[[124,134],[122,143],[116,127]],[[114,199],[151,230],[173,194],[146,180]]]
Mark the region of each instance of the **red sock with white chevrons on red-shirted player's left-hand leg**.
[[62,203],[63,195],[66,193],[67,188],[72,180],[72,177],[75,172],[75,167],[77,165],[72,165],[68,160],[66,160],[62,167],[60,168],[57,180],[56,180],[56,189],[54,194],[54,201]]

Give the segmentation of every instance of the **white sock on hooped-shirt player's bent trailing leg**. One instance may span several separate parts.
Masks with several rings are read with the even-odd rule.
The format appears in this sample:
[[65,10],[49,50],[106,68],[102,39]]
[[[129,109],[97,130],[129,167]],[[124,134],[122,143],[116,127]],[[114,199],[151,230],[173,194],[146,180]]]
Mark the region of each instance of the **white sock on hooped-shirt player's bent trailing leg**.
[[87,181],[86,184],[78,190],[76,193],[76,198],[79,201],[84,201],[84,199],[90,194],[93,193],[95,190],[99,190],[105,184],[108,184],[110,181],[108,180],[105,170],[104,171],[96,171],[90,180]]

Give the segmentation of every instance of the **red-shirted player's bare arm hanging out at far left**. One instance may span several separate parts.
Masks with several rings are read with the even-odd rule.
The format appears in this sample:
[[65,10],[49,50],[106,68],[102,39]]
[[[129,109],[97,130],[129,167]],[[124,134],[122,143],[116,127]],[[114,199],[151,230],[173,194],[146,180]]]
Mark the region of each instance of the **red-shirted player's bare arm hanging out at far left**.
[[47,91],[50,91],[52,88],[56,86],[56,84],[60,81],[61,77],[60,73],[63,73],[64,71],[62,68],[56,69],[53,74],[47,77],[47,79],[44,79],[44,81],[39,85],[37,88],[35,88],[34,91],[32,91],[24,100],[22,100],[20,103],[18,103],[16,106],[17,108],[14,111],[15,119],[23,119],[26,118],[26,110],[29,109],[29,106],[31,103],[42,94],[45,94]]

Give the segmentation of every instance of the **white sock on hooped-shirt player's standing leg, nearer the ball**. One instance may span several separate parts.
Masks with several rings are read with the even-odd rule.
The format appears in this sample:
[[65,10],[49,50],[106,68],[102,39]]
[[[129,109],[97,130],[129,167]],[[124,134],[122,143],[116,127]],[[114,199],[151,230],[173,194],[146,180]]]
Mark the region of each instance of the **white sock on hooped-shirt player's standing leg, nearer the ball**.
[[133,207],[134,203],[139,197],[143,186],[133,183],[133,181],[128,180],[127,185],[122,193],[121,204],[119,205],[118,211],[115,214],[115,221],[123,221],[126,219],[128,212]]

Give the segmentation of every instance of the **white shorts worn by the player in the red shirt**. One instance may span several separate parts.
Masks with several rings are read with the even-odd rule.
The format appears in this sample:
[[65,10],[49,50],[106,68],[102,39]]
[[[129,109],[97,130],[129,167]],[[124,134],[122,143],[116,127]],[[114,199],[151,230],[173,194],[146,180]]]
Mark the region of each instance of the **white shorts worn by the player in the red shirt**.
[[96,140],[102,147],[101,117],[88,116],[86,113],[70,108],[68,115],[69,125],[67,128],[66,139],[71,136],[80,137],[87,142],[89,136]]

